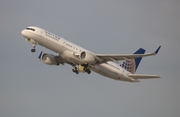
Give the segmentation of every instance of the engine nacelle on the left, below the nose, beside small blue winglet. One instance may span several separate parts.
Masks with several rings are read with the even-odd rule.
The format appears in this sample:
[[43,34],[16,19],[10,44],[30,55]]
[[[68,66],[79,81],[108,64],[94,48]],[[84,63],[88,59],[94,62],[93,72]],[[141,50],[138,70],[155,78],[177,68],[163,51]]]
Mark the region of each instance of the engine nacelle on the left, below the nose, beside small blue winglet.
[[41,60],[42,60],[45,64],[48,64],[48,65],[59,65],[59,64],[58,64],[58,61],[57,61],[56,58],[55,58],[55,56],[52,55],[52,54],[44,53],[44,54],[42,55]]

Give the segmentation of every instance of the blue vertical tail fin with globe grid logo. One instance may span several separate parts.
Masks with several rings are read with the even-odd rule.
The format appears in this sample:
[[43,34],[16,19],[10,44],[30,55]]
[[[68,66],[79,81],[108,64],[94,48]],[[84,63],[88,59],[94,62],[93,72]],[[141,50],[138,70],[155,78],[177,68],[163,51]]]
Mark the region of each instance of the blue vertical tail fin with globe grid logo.
[[[145,53],[145,50],[140,48],[134,54],[144,54],[144,53]],[[132,74],[134,74],[136,72],[138,66],[139,66],[139,63],[141,62],[141,59],[142,59],[142,57],[126,60],[120,66],[122,68],[124,68],[125,70],[127,70],[127,71],[131,72]]]

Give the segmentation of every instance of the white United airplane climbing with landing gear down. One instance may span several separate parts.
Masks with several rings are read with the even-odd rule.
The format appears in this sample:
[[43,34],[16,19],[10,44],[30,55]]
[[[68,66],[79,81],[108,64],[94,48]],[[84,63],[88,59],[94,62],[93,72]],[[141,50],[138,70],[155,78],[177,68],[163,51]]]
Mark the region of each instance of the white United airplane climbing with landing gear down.
[[[58,54],[41,51],[38,58],[47,65],[69,64],[76,74],[80,72],[90,74],[94,71],[105,77],[126,82],[160,78],[158,75],[135,74],[135,72],[142,57],[156,55],[161,46],[152,53],[145,53],[145,50],[140,48],[134,54],[95,54],[39,27],[29,26],[23,29],[21,34],[32,44],[31,52],[35,52],[36,45],[40,45]],[[120,60],[124,62],[119,64]]]

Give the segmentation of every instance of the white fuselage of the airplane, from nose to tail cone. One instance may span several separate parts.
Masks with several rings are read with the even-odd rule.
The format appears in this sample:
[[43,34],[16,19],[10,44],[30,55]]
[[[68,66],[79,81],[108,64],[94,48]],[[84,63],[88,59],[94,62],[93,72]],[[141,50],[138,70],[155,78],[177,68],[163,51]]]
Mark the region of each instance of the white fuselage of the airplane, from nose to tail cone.
[[[37,43],[45,48],[48,48],[64,58],[65,60],[75,63],[77,65],[82,64],[83,62],[76,56],[74,53],[81,53],[83,51],[92,53],[80,46],[77,46],[64,38],[61,38],[49,31],[38,27],[32,27],[35,31],[31,30],[23,30],[22,35],[26,38],[26,40],[31,43]],[[94,54],[94,53],[92,53]],[[73,55],[73,56],[72,56]],[[115,80],[122,80],[128,82],[137,82],[134,79],[128,77],[130,72],[123,69],[119,64],[114,62],[100,63],[94,64],[90,69],[98,74],[101,74],[105,77],[112,78]]]

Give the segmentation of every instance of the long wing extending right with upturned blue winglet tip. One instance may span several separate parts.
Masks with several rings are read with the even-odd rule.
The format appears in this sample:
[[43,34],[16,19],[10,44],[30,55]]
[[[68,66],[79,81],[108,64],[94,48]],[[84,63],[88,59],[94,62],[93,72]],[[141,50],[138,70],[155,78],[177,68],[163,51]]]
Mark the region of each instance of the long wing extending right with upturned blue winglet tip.
[[145,53],[145,54],[96,54],[97,60],[100,62],[114,61],[117,62],[119,60],[129,60],[139,57],[153,56],[156,55],[161,46],[153,53]]

